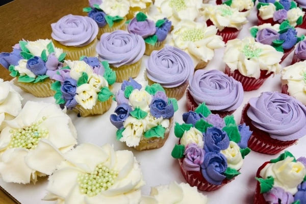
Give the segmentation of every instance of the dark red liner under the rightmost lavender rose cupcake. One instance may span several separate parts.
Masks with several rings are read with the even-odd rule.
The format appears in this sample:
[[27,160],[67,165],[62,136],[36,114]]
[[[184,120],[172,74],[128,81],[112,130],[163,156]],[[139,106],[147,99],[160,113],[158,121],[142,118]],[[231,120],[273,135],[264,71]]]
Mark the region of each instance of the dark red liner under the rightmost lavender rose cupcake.
[[240,123],[245,123],[250,127],[250,130],[253,131],[247,146],[253,151],[260,152],[267,155],[275,155],[278,152],[286,149],[289,146],[292,146],[297,142],[297,140],[289,141],[280,141],[270,137],[270,135],[257,127],[255,127],[251,119],[247,116],[246,112],[250,107],[249,104],[246,104],[242,110],[241,121]]

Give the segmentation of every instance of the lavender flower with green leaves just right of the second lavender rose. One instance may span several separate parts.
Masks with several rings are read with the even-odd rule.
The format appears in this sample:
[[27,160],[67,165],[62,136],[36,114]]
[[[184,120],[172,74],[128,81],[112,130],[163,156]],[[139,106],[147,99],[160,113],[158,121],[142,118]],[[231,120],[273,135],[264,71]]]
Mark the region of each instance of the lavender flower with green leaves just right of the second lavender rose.
[[155,22],[149,19],[137,21],[136,17],[134,17],[130,21],[129,25],[127,25],[127,31],[129,31],[129,33],[140,35],[143,39],[145,39],[155,34]]

